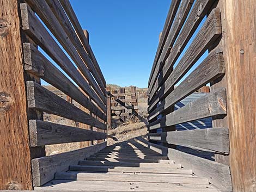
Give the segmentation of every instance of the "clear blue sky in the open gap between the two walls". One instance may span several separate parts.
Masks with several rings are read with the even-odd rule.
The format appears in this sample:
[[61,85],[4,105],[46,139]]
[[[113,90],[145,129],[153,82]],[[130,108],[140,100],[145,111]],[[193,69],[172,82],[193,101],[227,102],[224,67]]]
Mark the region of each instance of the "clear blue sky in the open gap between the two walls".
[[71,0],[106,82],[148,86],[170,0]]

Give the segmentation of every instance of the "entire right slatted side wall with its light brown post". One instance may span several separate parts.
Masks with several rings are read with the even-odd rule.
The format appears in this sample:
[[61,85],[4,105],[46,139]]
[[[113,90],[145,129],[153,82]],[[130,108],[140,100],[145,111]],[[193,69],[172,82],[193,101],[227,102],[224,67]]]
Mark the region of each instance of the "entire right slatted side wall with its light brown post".
[[[173,0],[149,78],[150,147],[221,191],[255,191],[253,10],[252,0]],[[174,110],[208,83],[209,94]],[[176,131],[205,117],[212,128]]]

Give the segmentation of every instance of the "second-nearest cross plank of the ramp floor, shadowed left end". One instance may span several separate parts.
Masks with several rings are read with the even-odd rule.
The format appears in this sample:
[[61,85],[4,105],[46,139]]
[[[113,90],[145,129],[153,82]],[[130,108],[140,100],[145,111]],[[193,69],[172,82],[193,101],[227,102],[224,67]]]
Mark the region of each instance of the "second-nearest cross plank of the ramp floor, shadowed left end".
[[93,174],[93,173],[77,173],[77,172],[60,172],[55,175],[54,179],[60,180],[82,180],[82,181],[125,181],[125,182],[146,182],[146,183],[182,183],[182,184],[209,184],[207,178],[197,177],[179,177],[174,176],[158,176],[155,175],[119,175],[119,174]]

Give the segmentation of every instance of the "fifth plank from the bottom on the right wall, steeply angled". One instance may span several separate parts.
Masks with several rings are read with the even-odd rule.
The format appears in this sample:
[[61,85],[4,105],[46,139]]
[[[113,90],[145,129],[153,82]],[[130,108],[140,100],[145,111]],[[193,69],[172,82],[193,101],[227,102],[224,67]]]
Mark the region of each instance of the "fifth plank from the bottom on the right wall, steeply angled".
[[[204,26],[200,29],[196,38],[193,40],[190,47],[187,49],[178,65],[175,67],[169,77],[166,76],[166,67],[163,67],[163,71],[160,73],[160,77],[157,83],[163,82],[162,77],[165,80],[164,84],[160,86],[161,90],[156,95],[156,99],[152,104],[155,106],[155,103],[161,100],[164,96],[168,95],[172,91],[172,86],[177,83],[185,73],[191,69],[191,67],[197,62],[197,60],[204,54],[204,52],[209,48],[209,45],[214,42],[218,36],[222,33],[221,31],[221,15],[219,9],[212,10],[211,14],[207,18]],[[170,63],[174,64],[174,63]],[[165,65],[167,66],[167,65]],[[168,65],[169,66],[169,65]],[[161,83],[160,83],[161,85]],[[168,86],[167,86],[168,85]],[[159,84],[155,84],[154,88],[150,93],[149,100],[152,101],[156,91],[159,89]],[[160,98],[159,98],[160,97]]]

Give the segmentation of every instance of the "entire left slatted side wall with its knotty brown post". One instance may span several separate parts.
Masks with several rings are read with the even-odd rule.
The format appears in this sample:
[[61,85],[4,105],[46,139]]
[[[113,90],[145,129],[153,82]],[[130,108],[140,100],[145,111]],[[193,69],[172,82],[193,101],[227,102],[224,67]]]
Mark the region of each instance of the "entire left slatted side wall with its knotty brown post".
[[[45,156],[45,145],[106,139],[106,82],[68,0],[19,2],[0,3],[0,189],[42,185],[106,146]],[[44,88],[41,79],[81,107]],[[44,113],[87,128],[43,121]]]

